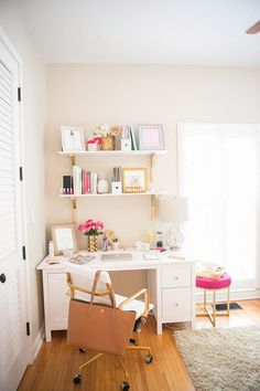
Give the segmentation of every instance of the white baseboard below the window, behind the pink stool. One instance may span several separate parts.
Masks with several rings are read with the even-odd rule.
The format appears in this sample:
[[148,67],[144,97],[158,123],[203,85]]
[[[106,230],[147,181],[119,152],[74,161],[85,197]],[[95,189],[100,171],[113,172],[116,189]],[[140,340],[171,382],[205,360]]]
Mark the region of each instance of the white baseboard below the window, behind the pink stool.
[[[212,297],[212,290],[207,294],[208,298]],[[230,300],[250,300],[250,299],[259,299],[260,298],[260,289],[234,289],[230,290]],[[217,292],[217,300],[225,302],[227,299],[227,290],[218,290]],[[196,292],[196,303],[203,303],[203,289],[197,289]]]

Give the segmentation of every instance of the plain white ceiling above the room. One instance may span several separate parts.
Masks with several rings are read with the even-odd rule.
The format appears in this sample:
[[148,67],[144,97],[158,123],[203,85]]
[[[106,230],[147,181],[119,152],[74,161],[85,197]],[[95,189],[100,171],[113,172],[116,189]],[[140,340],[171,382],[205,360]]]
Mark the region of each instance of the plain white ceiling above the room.
[[17,0],[46,63],[260,66],[260,0]]

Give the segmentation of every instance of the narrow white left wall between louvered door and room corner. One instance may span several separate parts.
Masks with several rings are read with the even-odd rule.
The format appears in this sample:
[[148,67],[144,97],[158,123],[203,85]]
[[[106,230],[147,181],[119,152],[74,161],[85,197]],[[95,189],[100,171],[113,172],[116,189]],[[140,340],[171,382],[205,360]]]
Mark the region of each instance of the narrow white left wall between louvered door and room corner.
[[22,59],[22,109],[25,169],[28,263],[30,274],[32,337],[35,341],[43,324],[41,273],[36,265],[45,255],[44,118],[45,65],[40,60],[19,10],[11,2],[0,3],[0,25]]

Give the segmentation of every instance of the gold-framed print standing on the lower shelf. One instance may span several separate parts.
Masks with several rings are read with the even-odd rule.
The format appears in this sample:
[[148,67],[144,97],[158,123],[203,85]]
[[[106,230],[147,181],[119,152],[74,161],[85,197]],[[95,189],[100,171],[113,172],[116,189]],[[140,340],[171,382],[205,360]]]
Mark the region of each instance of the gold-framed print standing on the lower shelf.
[[147,168],[122,168],[123,193],[145,193],[148,191]]

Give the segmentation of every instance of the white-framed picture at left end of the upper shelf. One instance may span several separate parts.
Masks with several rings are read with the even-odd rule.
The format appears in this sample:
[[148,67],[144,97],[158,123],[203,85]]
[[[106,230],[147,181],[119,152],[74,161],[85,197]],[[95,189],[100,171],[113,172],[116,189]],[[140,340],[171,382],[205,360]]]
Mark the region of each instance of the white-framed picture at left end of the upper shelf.
[[61,133],[64,152],[85,150],[84,134],[82,128],[62,126]]

